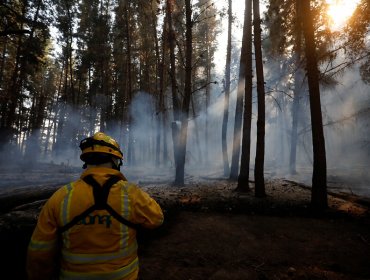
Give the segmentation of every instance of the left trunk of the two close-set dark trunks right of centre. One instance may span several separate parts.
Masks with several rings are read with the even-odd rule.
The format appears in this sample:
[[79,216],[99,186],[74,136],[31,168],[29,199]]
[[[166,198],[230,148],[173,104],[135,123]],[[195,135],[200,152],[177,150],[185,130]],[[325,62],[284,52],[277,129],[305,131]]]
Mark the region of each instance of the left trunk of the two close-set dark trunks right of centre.
[[[252,122],[252,0],[245,0],[244,16],[245,41],[245,97],[243,115],[243,140],[240,173],[237,191],[249,191],[249,162],[251,150],[251,122]],[[243,33],[244,33],[243,32]]]

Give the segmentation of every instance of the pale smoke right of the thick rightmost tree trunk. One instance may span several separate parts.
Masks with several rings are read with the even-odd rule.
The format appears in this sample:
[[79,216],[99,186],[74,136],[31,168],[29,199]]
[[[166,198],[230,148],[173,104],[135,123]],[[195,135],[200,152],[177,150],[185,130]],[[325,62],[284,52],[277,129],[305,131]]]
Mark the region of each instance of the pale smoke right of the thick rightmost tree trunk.
[[333,90],[324,91],[322,100],[329,175],[338,177],[340,174],[370,189],[367,171],[370,166],[370,94],[358,68],[346,71]]

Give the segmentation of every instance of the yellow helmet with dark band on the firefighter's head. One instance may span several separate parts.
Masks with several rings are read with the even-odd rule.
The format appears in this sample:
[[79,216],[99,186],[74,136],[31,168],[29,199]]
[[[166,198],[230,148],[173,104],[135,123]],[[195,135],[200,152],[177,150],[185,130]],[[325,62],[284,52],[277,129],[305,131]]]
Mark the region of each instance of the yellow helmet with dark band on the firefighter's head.
[[85,138],[80,143],[80,159],[86,161],[86,155],[92,153],[103,153],[112,155],[122,160],[123,154],[116,140],[103,132],[97,132],[92,137]]

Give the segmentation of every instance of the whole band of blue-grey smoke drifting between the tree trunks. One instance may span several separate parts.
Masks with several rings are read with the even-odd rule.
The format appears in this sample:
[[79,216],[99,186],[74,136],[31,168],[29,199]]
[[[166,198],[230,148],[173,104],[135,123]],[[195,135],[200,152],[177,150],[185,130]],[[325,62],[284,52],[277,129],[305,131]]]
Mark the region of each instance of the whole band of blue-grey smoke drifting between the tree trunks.
[[[307,184],[312,177],[312,140],[309,117],[308,92],[304,92],[301,100],[301,118],[297,146],[298,174],[289,174],[290,137],[292,125],[292,98],[289,96],[289,79],[279,79],[279,68],[269,64],[265,69],[268,94],[266,95],[266,137],[265,137],[265,176],[293,178]],[[222,78],[218,77],[219,80]],[[217,77],[216,77],[217,79]],[[346,71],[340,83],[332,88],[321,89],[324,133],[326,140],[328,183],[342,183],[350,186],[354,193],[368,195],[370,193],[370,127],[369,127],[369,86],[360,78],[358,69]],[[232,140],[236,104],[236,84],[231,86],[228,121],[228,155],[231,162]],[[286,89],[286,93],[270,88]],[[221,127],[223,121],[224,92],[222,85],[211,86],[210,106],[205,108],[204,91],[193,95],[189,116],[188,142],[185,173],[187,176],[223,176]],[[256,93],[253,93],[253,120],[251,132],[251,169],[254,168],[256,147]],[[64,111],[62,111],[64,110]],[[53,138],[56,127],[55,116],[45,123],[39,131],[22,131],[18,142],[2,151],[3,165],[20,164],[21,162],[54,163],[70,167],[71,171],[80,172],[82,162],[79,160],[79,142],[99,130],[99,122],[90,123],[91,119],[99,119],[99,111],[86,108],[89,114],[73,110],[71,107],[57,108],[65,118],[62,137],[59,142]],[[165,111],[160,112],[155,98],[151,93],[137,92],[132,100],[130,113],[132,116],[131,131],[122,122],[111,123],[107,133],[119,142],[124,153],[123,172],[129,179],[145,180],[153,174],[164,174],[168,181],[174,178],[173,142],[171,122],[173,121],[172,100],[169,92],[165,101]],[[82,116],[88,116],[88,119]],[[57,116],[58,117],[58,116]],[[163,127],[165,118],[166,127]],[[59,119],[58,121],[61,121]],[[77,133],[76,133],[77,132]],[[134,167],[129,166],[127,135],[133,135]],[[79,135],[75,138],[74,135]],[[159,137],[159,138],[158,138]],[[23,140],[24,141],[20,141]],[[41,141],[40,141],[41,139]],[[157,139],[160,139],[157,153]],[[165,141],[164,141],[165,140]],[[167,146],[164,146],[164,142]],[[15,147],[15,148],[14,148]],[[167,157],[163,158],[167,151]],[[53,151],[53,152],[52,152]],[[158,157],[159,155],[159,157]],[[253,172],[250,172],[253,177]],[[253,179],[253,178],[251,178]]]

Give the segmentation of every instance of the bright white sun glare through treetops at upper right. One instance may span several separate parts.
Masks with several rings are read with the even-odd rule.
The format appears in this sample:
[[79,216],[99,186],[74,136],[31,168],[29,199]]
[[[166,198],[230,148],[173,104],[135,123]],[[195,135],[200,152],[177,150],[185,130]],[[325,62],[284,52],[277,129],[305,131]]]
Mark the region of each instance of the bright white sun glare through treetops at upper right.
[[328,16],[332,29],[343,27],[351,17],[360,0],[326,0],[329,5]]

